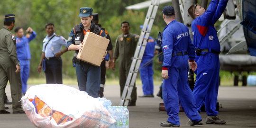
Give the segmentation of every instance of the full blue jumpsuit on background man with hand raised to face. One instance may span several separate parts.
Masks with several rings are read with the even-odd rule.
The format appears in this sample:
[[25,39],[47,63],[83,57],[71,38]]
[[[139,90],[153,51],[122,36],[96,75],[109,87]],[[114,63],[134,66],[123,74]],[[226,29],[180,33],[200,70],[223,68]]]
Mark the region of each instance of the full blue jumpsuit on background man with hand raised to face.
[[37,33],[33,31],[29,38],[23,36],[22,38],[16,37],[16,47],[17,55],[20,64],[20,77],[22,82],[22,94],[25,94],[27,91],[27,79],[29,77],[29,67],[30,67],[30,48],[29,42],[37,37]]

